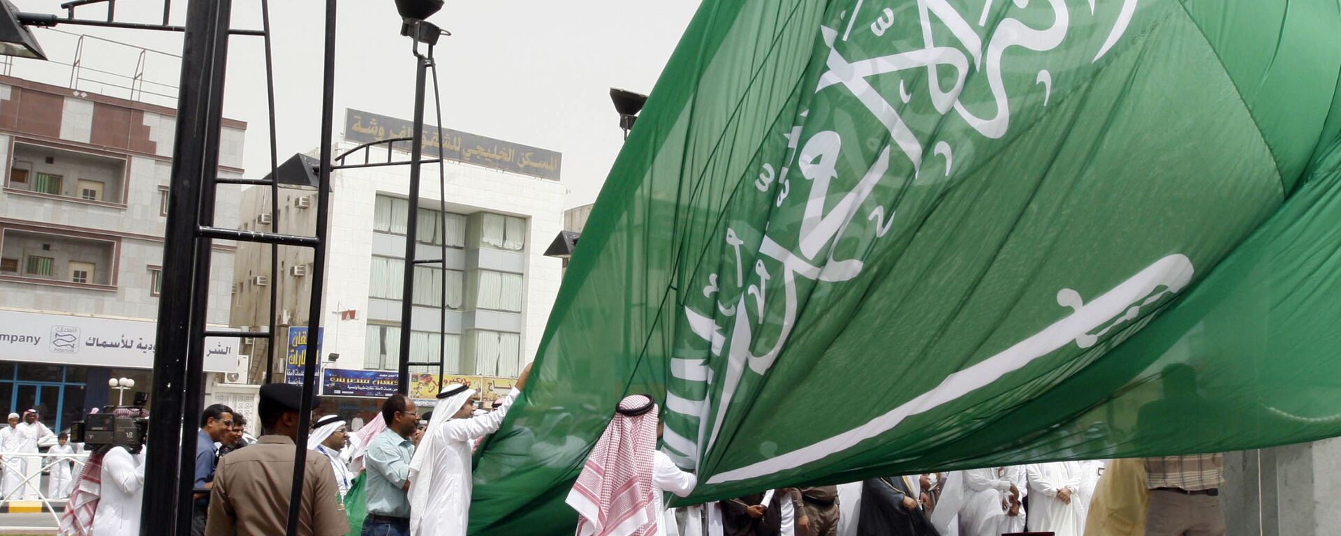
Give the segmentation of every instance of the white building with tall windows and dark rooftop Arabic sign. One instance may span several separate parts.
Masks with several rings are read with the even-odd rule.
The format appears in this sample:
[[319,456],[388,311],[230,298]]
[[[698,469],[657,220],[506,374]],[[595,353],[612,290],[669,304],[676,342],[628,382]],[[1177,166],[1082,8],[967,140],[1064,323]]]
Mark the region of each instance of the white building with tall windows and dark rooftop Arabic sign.
[[[390,131],[396,129],[388,126],[408,125],[402,119],[355,110],[346,115],[345,139],[337,142],[337,154],[367,141],[366,134],[358,133],[369,130],[367,125],[381,122]],[[433,129],[426,129],[425,134],[430,131]],[[437,138],[436,133],[432,135]],[[386,138],[392,137],[386,134]],[[558,153],[496,139],[484,145],[479,139],[487,138],[467,133],[449,131],[445,138],[456,141],[440,145],[459,149],[444,149],[448,153],[445,201],[439,193],[437,166],[426,163],[422,168],[420,212],[413,217],[418,222],[417,259],[440,259],[441,245],[447,245],[447,302],[444,304],[441,299],[444,268],[437,264],[416,267],[416,291],[410,296],[414,303],[410,359],[439,359],[439,328],[445,318],[448,381],[468,381],[485,391],[491,386],[503,389],[535,355],[559,289],[562,263],[543,256],[550,240],[563,228],[566,189],[558,181]],[[463,143],[465,149],[460,149]],[[406,161],[409,143],[401,142],[388,155],[382,145],[369,150],[366,157],[369,162],[386,162],[388,158]],[[468,154],[463,155],[463,151]],[[483,158],[496,157],[499,161],[512,154],[514,163],[522,162],[526,155],[540,158],[536,154],[552,159],[547,159],[550,165],[539,172],[534,161],[528,161],[531,168],[522,166],[519,172],[498,169],[508,168],[507,162],[469,163],[484,153],[488,154]],[[365,153],[359,151],[345,162],[362,163],[363,159]],[[552,178],[542,178],[542,174]],[[323,394],[339,402],[323,406],[366,418],[381,403],[381,397],[394,391],[398,378],[405,233],[412,217],[409,166],[337,170],[331,186],[319,339]],[[280,206],[275,225],[268,220],[268,188],[243,192],[241,228],[314,233],[315,189],[283,188]],[[445,226],[441,224],[443,210],[447,212]],[[233,326],[266,326],[268,285],[276,284],[280,324],[306,331],[311,251],[280,248],[280,272],[271,280],[270,247],[241,244],[239,248]],[[279,331],[280,344],[299,342],[294,335],[286,336],[284,330]],[[286,370],[294,379],[299,359],[291,359],[290,354],[282,351],[276,355],[276,381]],[[264,374],[264,350],[257,346],[252,360],[253,379]],[[436,389],[436,377],[424,377],[424,373],[436,373],[436,368],[416,367],[413,373],[420,374],[413,379],[416,387],[412,387],[412,395],[432,401],[436,390],[421,390],[417,383],[425,387],[432,383]],[[489,398],[488,394],[485,398]]]

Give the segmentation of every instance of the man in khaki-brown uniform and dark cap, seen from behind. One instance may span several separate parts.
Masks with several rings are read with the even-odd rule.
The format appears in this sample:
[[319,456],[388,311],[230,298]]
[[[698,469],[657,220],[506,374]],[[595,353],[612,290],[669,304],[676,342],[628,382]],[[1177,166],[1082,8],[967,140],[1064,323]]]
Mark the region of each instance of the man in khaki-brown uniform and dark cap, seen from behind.
[[[205,536],[283,535],[294,485],[294,441],[303,389],[268,383],[260,387],[260,441],[219,461],[209,498]],[[315,406],[315,405],[314,405]],[[339,484],[330,461],[308,452],[298,533],[345,536],[349,520],[339,503]]]

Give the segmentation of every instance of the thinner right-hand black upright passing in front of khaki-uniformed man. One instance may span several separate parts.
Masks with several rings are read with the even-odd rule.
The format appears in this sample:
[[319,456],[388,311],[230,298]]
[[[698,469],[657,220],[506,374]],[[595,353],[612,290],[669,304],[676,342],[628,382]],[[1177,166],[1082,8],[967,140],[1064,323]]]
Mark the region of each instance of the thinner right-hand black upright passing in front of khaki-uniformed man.
[[[320,173],[316,181],[316,247],[312,248],[312,291],[307,307],[307,355],[303,359],[303,401],[298,411],[298,441],[294,445],[294,488],[288,497],[287,536],[298,536],[298,517],[302,511],[303,473],[307,469],[307,434],[311,429],[312,395],[316,393],[316,363],[320,360],[320,328],[325,308],[322,295],[326,279],[326,239],[330,220],[331,165],[334,153],[331,137],[335,130],[335,1],[326,0],[326,58],[322,75],[322,149]],[[275,178],[276,181],[279,177]],[[314,343],[318,340],[318,343]]]

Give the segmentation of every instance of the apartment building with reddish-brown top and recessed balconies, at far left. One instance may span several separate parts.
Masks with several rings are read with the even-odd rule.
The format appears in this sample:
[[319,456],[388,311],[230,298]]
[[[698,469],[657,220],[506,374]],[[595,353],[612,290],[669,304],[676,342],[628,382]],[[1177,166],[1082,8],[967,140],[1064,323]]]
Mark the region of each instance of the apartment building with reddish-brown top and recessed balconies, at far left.
[[[0,76],[0,411],[54,430],[152,385],[176,110]],[[247,125],[224,121],[219,173],[240,177]],[[239,190],[219,190],[221,226]],[[208,323],[227,326],[235,245],[216,243]],[[233,373],[236,340],[207,370]],[[217,377],[211,374],[211,377]],[[212,378],[213,379],[213,378]]]

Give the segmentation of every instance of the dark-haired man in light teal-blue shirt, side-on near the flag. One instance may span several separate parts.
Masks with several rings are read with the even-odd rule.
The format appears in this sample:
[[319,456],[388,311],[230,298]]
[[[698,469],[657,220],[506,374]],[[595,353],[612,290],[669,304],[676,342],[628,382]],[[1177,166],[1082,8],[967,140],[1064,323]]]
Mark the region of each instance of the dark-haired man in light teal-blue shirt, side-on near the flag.
[[410,436],[418,422],[417,407],[404,394],[393,394],[382,403],[386,430],[373,438],[365,454],[367,466],[367,517],[363,536],[409,536],[410,501],[405,492],[410,488],[410,458],[414,444]]

